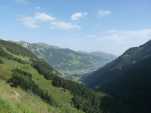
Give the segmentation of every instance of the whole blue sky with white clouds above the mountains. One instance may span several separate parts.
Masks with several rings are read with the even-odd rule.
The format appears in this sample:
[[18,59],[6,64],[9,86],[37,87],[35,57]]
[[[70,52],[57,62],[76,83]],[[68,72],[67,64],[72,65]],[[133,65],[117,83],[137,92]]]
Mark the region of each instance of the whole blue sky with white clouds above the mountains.
[[0,38],[121,55],[151,39],[151,0],[0,0]]

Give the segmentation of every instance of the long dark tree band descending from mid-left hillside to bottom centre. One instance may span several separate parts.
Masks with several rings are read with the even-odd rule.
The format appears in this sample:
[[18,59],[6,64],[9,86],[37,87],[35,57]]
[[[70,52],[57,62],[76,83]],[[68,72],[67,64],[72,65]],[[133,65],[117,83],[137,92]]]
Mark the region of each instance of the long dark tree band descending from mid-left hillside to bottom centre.
[[43,61],[33,61],[33,67],[35,67],[45,79],[52,80],[54,86],[69,90],[73,94],[72,104],[76,108],[86,113],[102,113],[100,108],[101,96],[81,84],[57,76],[59,73],[53,73],[54,69]]

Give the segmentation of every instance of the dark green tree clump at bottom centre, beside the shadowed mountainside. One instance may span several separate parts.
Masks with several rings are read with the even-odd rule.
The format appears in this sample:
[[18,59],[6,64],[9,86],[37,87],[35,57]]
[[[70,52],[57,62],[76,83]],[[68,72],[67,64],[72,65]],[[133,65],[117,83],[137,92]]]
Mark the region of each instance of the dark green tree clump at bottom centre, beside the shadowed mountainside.
[[72,104],[86,113],[101,113],[101,96],[78,83],[55,77],[52,84],[56,87],[68,89],[72,94]]

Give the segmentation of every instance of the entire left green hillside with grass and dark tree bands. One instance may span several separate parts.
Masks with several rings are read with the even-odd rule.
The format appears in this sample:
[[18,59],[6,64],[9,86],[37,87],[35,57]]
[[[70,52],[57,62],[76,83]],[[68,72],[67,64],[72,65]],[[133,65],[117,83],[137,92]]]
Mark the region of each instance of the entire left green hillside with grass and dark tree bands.
[[58,77],[30,51],[0,40],[0,113],[102,113],[102,93]]

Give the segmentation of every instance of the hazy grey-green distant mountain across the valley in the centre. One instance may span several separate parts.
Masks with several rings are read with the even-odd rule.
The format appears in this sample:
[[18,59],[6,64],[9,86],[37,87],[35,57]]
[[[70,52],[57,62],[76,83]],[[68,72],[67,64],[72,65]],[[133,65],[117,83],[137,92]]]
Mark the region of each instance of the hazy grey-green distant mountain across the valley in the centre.
[[79,79],[79,75],[92,72],[115,58],[114,55],[103,52],[78,52],[44,43],[20,42],[20,44],[64,73],[68,79]]

